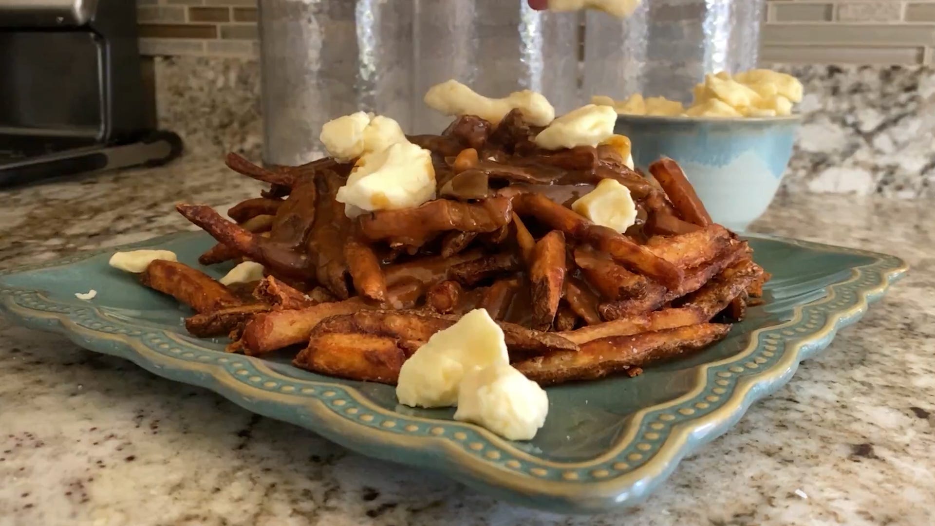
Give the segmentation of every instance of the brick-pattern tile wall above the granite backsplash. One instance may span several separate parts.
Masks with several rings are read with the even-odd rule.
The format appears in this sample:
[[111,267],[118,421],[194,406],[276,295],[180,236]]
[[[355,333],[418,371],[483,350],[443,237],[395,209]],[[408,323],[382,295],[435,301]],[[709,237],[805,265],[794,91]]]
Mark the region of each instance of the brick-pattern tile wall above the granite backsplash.
[[[935,64],[935,0],[767,4],[763,62]],[[256,55],[256,0],[137,0],[137,9],[143,54]]]

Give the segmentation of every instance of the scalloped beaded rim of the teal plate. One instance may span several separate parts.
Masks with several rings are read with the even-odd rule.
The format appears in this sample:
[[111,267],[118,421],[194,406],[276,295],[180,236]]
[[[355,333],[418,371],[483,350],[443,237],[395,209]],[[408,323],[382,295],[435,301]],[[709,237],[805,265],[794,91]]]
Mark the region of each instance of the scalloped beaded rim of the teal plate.
[[[235,355],[224,355],[218,351],[204,349],[205,352],[212,355],[220,354],[223,357],[229,357],[227,362],[237,360],[237,362],[250,363],[256,371],[251,378],[260,378],[257,382],[266,378],[264,384],[278,381],[285,383],[283,379],[286,379],[285,381],[296,384],[308,384],[313,386],[314,389],[326,389],[323,391],[322,396],[330,391],[332,392],[331,396],[336,398],[330,400],[332,405],[329,407],[325,400],[318,397],[307,397],[300,400],[292,391],[285,393],[285,387],[282,387],[283,392],[271,393],[257,387],[259,384],[252,386],[246,382],[239,382],[235,374],[230,373],[223,366],[182,360],[180,357],[160,354],[151,349],[143,350],[146,347],[142,335],[111,334],[84,328],[79,326],[79,322],[74,319],[77,314],[53,313],[24,307],[16,302],[16,298],[28,294],[32,294],[50,304],[56,304],[56,302],[42,298],[41,291],[10,287],[3,283],[5,276],[22,271],[63,267],[115,250],[155,246],[166,241],[180,241],[185,236],[191,236],[194,239],[195,236],[200,235],[201,232],[198,231],[178,232],[151,240],[81,252],[60,260],[36,265],[23,265],[0,271],[0,311],[5,312],[10,321],[18,322],[20,325],[64,334],[79,346],[96,352],[130,359],[151,373],[171,380],[209,388],[253,413],[294,423],[309,431],[322,434],[329,440],[364,455],[429,468],[451,476],[474,489],[493,493],[516,504],[562,513],[595,513],[639,504],[668,478],[686,455],[691,454],[699,446],[710,442],[733,427],[753,402],[782,387],[793,376],[798,368],[798,363],[802,359],[810,358],[827,347],[839,329],[855,323],[866,313],[868,305],[875,300],[879,300],[889,285],[899,280],[908,270],[905,262],[895,256],[812,241],[791,240],[762,234],[745,234],[746,237],[780,241],[807,249],[869,256],[873,258],[873,261],[852,268],[852,275],[849,279],[827,285],[828,294],[825,298],[795,307],[795,316],[792,320],[769,328],[753,330],[750,343],[738,354],[699,364],[697,366],[696,384],[689,392],[677,399],[640,409],[630,417],[626,425],[627,431],[607,452],[592,460],[575,462],[539,460],[539,466],[541,467],[529,468],[525,464],[535,461],[534,456],[517,450],[515,447],[510,446],[509,441],[477,426],[450,420],[432,420],[398,415],[392,411],[376,408],[372,402],[368,403],[366,396],[354,387],[312,380],[299,381],[274,372],[266,367],[263,364],[264,360],[260,358],[240,356],[234,358]],[[849,287],[850,292],[854,295],[855,300],[847,308],[837,310],[828,308],[827,321],[820,329],[813,329],[810,333],[796,335],[798,338],[791,345],[785,345],[790,340],[781,336],[761,337],[766,332],[776,333],[779,330],[792,329],[803,319],[802,313],[805,308],[826,303],[830,304],[831,300],[834,300],[839,294],[841,296],[846,294],[847,290],[845,289],[848,288],[846,285],[859,282],[862,278],[868,276],[879,278],[879,283],[873,286],[851,285]],[[66,305],[61,302],[58,304]],[[94,313],[98,318],[108,319],[93,304],[81,306],[81,308]],[[118,322],[113,319],[109,319],[109,322],[109,325],[113,326],[133,327],[127,322]],[[140,330],[136,330],[136,332],[142,333]],[[174,339],[172,335],[177,333],[172,331],[153,329],[150,332],[163,333],[167,341],[179,343],[180,347],[183,344],[190,344]],[[674,423],[670,425],[668,434],[659,441],[661,445],[658,446],[648,460],[639,462],[638,467],[633,469],[629,469],[627,465],[626,468],[619,470],[619,475],[615,476],[611,476],[611,473],[599,473],[611,470],[592,469],[596,465],[602,465],[602,462],[596,461],[602,459],[604,460],[603,464],[610,460],[616,460],[613,464],[614,467],[617,464],[628,464],[628,462],[619,461],[621,459],[620,455],[626,451],[627,446],[632,446],[636,442],[635,435],[648,415],[665,411],[667,408],[674,408],[685,401],[695,400],[698,393],[707,392],[709,388],[712,388],[712,380],[708,374],[712,368],[739,363],[741,359],[749,357],[755,351],[762,350],[763,340],[770,340],[770,338],[777,340],[777,342],[771,343],[784,343],[783,352],[774,353],[779,357],[776,363],[764,370],[746,374],[737,379],[736,385],[731,390],[731,395],[726,397],[725,402],[717,404],[706,415],[688,417],[694,414],[693,411],[688,414],[683,413],[685,417],[673,417],[672,421]],[[197,348],[194,345],[192,347],[193,349]],[[748,362],[748,364],[750,363],[752,362]],[[733,367],[738,368],[737,365]],[[242,373],[242,371],[237,371],[237,373]],[[352,403],[360,403],[361,406],[368,407],[368,410],[378,413],[383,425],[388,425],[386,424],[388,420],[385,419],[387,415],[396,415],[396,417],[410,422],[410,424],[407,424],[407,429],[414,426],[419,428],[420,434],[414,436],[400,435],[398,430],[394,429],[396,424],[394,424],[393,428],[373,428],[362,425],[361,418],[352,420],[351,416],[338,415],[338,410],[335,407],[339,400],[345,400],[337,396],[338,391],[346,393]],[[344,404],[346,403],[347,401],[344,402]],[[393,421],[395,422],[395,420]],[[424,430],[422,426],[425,426]],[[433,433],[433,431],[439,429],[441,430],[439,434]],[[460,440],[453,438],[453,436],[459,434],[468,436],[468,432],[471,433],[470,436],[479,436],[490,447],[483,446],[480,441],[470,442],[464,438]],[[481,444],[482,447],[475,451],[485,450],[488,455],[496,453],[496,457],[480,457],[468,451],[468,449],[474,449],[473,446],[476,444]],[[511,458],[505,459],[503,453],[507,453]],[[617,456],[608,458],[607,456],[611,453],[616,453]],[[633,453],[629,455],[632,456]],[[511,466],[511,461],[516,463]],[[536,475],[536,469],[540,469],[542,475]],[[593,479],[582,480],[579,475],[583,473],[582,470],[587,469],[591,470],[590,475]],[[555,475],[560,476],[554,479]],[[601,476],[598,478],[597,475]]]

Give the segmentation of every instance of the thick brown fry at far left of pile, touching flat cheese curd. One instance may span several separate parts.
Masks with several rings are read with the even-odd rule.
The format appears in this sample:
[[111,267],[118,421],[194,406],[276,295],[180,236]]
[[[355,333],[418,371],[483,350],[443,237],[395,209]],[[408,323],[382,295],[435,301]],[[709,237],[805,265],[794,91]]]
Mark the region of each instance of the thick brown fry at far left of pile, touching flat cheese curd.
[[143,270],[139,280],[143,285],[180,300],[198,313],[210,313],[240,304],[226,286],[201,270],[177,261],[156,259]]

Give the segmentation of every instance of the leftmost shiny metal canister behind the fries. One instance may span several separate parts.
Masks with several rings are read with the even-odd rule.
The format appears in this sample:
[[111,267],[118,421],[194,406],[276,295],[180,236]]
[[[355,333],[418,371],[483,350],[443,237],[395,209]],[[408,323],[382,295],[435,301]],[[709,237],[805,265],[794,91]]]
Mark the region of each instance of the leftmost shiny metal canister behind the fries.
[[322,124],[357,110],[409,129],[414,0],[259,0],[259,7],[264,162],[320,156]]

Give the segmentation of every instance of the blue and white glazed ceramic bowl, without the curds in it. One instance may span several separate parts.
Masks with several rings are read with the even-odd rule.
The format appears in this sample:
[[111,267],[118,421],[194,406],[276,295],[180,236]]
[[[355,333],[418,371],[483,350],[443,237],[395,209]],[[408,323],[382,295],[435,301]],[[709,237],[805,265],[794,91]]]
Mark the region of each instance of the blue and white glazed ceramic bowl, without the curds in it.
[[659,157],[676,160],[712,219],[745,230],[766,211],[792,156],[798,116],[712,119],[621,115],[616,133],[633,142],[646,171]]

